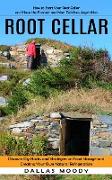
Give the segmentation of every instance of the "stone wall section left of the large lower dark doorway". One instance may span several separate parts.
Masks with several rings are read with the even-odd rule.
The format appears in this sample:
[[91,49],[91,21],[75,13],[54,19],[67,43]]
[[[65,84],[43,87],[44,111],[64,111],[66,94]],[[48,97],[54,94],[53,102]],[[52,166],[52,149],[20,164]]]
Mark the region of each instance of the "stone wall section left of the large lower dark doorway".
[[53,118],[51,116],[32,116],[25,119],[23,122],[9,126],[12,134],[19,137],[25,137],[29,141],[36,134],[45,136],[48,140],[48,153],[59,154],[60,142],[60,126],[59,120],[61,116]]

